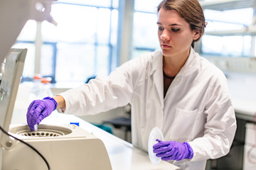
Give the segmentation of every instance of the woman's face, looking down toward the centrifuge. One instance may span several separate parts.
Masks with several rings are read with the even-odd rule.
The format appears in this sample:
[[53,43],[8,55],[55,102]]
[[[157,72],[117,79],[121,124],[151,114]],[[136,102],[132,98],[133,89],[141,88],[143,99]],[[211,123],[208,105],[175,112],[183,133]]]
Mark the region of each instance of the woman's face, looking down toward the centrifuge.
[[187,55],[191,43],[199,37],[196,30],[191,30],[184,18],[176,10],[160,9],[157,26],[158,37],[164,57]]

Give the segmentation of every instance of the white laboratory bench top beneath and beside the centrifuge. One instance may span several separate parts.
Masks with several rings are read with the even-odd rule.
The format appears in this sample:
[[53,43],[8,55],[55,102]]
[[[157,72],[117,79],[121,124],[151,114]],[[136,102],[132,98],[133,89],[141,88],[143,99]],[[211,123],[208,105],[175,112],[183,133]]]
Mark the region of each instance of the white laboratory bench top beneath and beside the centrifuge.
[[[134,147],[131,143],[126,142],[109,132],[105,132],[105,130],[97,128],[95,125],[87,123],[85,120],[82,120],[75,115],[65,115],[54,111],[48,118],[41,122],[41,124],[45,125],[60,126],[69,125],[70,123],[79,123],[80,128],[90,132],[104,142],[113,170],[179,169],[177,166],[164,161],[161,161],[160,164],[152,164],[148,153],[144,150]],[[23,109],[16,109],[11,124],[26,124],[26,111]]]

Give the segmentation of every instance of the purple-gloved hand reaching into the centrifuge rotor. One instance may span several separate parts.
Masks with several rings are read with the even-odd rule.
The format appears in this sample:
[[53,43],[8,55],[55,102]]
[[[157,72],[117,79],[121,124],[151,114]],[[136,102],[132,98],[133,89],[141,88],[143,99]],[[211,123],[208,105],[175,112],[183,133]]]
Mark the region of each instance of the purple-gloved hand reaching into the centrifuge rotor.
[[27,123],[31,131],[34,130],[34,125],[41,123],[50,113],[57,108],[57,102],[54,98],[46,97],[43,100],[32,101],[28,106]]

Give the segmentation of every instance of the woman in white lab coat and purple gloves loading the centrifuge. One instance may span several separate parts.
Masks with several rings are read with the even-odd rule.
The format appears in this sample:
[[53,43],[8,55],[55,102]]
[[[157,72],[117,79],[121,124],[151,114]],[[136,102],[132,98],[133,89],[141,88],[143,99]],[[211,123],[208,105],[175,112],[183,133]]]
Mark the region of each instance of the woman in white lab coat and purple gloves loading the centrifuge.
[[236,130],[228,86],[219,69],[193,50],[205,28],[197,0],[164,0],[158,6],[161,50],[130,60],[109,77],[33,101],[27,121],[40,123],[55,108],[84,115],[132,105],[132,144],[147,150],[152,128],[164,139],[157,157],[181,169],[205,169],[207,159],[227,154]]

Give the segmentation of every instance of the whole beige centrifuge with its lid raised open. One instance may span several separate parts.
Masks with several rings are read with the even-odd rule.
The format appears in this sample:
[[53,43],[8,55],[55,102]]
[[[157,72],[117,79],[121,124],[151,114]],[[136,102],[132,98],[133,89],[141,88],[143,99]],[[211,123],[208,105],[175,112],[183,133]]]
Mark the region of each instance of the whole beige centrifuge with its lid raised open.
[[102,140],[77,125],[38,125],[38,132],[10,125],[25,57],[26,50],[11,49],[1,79],[0,125],[12,136],[0,132],[1,169],[112,169]]

